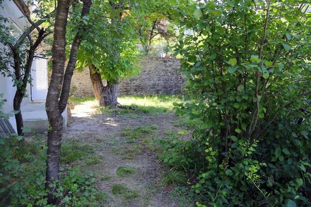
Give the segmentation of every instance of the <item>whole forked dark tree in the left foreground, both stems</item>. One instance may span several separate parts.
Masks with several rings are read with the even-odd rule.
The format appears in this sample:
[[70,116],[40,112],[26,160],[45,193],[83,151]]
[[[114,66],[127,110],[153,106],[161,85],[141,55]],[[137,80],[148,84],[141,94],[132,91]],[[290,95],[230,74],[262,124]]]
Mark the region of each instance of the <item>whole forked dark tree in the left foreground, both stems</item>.
[[[56,203],[54,194],[56,193],[56,181],[59,179],[59,159],[61,152],[61,140],[63,131],[62,112],[66,109],[71,77],[77,61],[77,53],[86,30],[85,22],[87,21],[92,1],[83,0],[74,1],[58,0],[56,8],[56,17],[54,23],[54,40],[52,45],[52,76],[48,89],[46,100],[46,111],[49,119],[48,132],[48,149],[47,149],[47,170],[46,185],[48,191],[48,203]],[[69,61],[65,68],[65,50],[66,50],[66,27],[69,14],[77,22],[77,30],[71,43]],[[82,10],[81,10],[82,9]],[[80,14],[80,15],[79,15]]]

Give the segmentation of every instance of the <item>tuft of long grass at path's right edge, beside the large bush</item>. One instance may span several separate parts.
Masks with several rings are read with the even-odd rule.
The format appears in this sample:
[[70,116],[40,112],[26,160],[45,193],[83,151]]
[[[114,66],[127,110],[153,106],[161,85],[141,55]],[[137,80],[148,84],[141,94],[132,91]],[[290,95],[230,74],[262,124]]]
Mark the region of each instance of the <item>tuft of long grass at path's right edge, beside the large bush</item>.
[[171,169],[162,178],[161,183],[165,186],[185,185],[187,183],[187,177],[184,172]]

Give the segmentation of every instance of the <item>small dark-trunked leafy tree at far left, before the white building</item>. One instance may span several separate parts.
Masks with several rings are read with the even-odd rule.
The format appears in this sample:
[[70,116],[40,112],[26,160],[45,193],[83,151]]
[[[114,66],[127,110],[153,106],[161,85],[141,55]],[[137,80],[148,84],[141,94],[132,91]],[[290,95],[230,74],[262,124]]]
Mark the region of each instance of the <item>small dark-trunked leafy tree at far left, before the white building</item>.
[[[31,17],[30,11],[23,0],[18,0],[21,10],[29,25],[25,28],[21,35],[16,36],[16,32],[12,32],[12,28],[8,26],[11,20],[0,16],[0,42],[4,45],[0,51],[0,72],[3,76],[12,77],[13,86],[17,90],[14,96],[13,109],[16,111],[15,119],[17,125],[17,133],[23,134],[23,119],[20,110],[20,104],[26,94],[26,86],[31,83],[31,67],[35,52],[44,38],[51,34],[52,14],[51,9],[42,8],[47,4],[45,1],[37,1],[37,8],[33,11],[35,17]],[[2,0],[0,1],[2,5]],[[35,20],[34,20],[35,19]],[[45,24],[44,26],[41,26]],[[41,26],[41,27],[40,27]],[[13,67],[13,71],[10,66]]]

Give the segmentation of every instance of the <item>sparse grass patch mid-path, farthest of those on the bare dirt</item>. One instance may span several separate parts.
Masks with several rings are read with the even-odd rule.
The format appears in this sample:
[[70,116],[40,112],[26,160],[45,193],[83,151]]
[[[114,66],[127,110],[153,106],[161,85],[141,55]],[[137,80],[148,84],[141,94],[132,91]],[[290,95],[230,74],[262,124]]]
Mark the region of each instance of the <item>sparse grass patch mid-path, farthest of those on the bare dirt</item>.
[[136,140],[142,138],[144,135],[152,134],[157,129],[156,125],[150,126],[139,126],[136,128],[124,128],[124,131],[121,133],[123,137],[126,137],[128,140]]

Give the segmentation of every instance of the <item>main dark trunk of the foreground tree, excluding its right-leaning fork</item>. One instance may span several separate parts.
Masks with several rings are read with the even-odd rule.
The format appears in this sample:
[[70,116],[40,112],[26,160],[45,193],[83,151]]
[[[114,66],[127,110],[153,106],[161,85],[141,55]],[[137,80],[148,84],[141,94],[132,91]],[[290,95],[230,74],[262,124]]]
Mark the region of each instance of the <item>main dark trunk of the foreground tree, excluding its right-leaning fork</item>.
[[46,100],[49,119],[47,169],[45,188],[48,190],[48,203],[55,204],[53,185],[58,179],[63,117],[58,108],[58,97],[62,88],[65,67],[66,26],[70,0],[58,0],[54,23],[54,40],[52,46],[52,76]]

